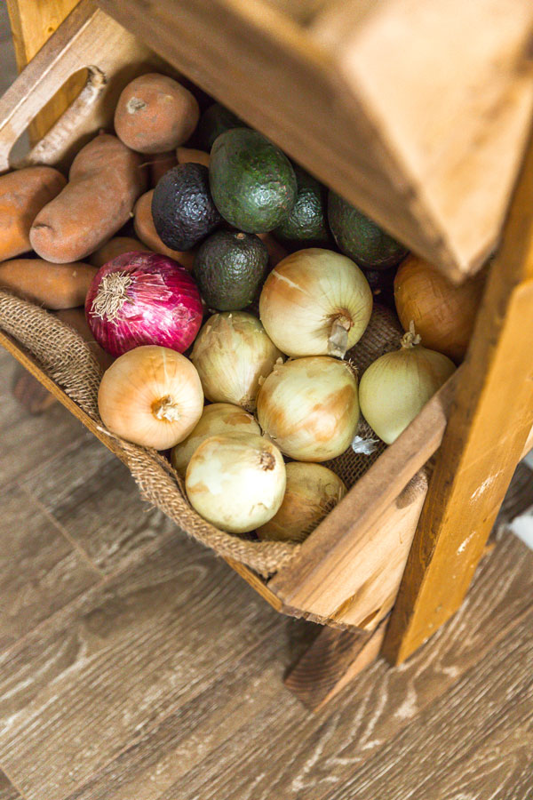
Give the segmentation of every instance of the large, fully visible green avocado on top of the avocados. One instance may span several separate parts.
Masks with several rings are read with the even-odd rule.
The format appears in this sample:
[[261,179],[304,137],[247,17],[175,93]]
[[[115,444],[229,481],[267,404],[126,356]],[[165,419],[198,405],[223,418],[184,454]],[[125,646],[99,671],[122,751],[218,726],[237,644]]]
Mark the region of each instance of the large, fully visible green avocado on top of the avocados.
[[296,176],[289,159],[250,128],[220,134],[211,148],[209,180],[219,212],[246,233],[274,230],[296,200]]

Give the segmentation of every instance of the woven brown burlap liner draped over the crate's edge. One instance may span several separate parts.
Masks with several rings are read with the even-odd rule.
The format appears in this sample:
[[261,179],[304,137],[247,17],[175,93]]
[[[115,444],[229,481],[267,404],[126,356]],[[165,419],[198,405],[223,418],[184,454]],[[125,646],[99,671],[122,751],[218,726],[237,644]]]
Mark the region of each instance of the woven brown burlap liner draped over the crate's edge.
[[[43,308],[3,291],[0,291],[0,327],[20,341],[36,358],[43,371],[105,430],[98,412],[102,371],[91,350],[74,329]],[[362,374],[378,356],[397,347],[400,333],[394,314],[387,308],[377,306],[362,340],[346,357]],[[123,451],[141,496],[219,556],[233,558],[260,575],[268,576],[297,555],[300,545],[296,543],[256,541],[219,531],[191,508],[182,480],[163,456],[155,450],[125,442],[108,431],[106,433],[115,439],[115,445]],[[364,420],[358,433],[363,438],[377,438]],[[330,461],[328,466],[350,488],[378,459],[385,446],[380,442],[371,455],[354,453],[350,448],[338,459]]]

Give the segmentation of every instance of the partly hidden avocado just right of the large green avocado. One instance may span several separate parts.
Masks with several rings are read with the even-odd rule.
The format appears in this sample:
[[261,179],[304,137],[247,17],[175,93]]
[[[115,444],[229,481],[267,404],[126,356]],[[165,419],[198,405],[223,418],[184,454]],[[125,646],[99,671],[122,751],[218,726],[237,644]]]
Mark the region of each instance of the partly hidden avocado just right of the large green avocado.
[[331,244],[328,228],[328,190],[308,172],[294,164],[297,182],[296,203],[286,220],[274,229],[274,236],[287,244],[327,247]]

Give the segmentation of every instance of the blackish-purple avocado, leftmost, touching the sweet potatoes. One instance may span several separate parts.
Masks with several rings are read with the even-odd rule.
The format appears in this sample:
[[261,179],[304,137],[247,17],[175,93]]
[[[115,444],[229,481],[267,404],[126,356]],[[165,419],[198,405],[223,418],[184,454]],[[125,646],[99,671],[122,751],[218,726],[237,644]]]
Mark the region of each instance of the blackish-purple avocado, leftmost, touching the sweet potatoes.
[[203,164],[178,164],[165,172],[152,197],[155,230],[172,250],[190,250],[222,218],[213,203],[209,170]]

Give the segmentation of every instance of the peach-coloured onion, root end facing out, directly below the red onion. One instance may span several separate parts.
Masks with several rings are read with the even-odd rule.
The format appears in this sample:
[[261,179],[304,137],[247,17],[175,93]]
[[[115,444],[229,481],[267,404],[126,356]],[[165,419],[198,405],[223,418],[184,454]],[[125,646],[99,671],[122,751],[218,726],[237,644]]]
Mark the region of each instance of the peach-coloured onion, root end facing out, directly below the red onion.
[[166,450],[185,439],[202,416],[202,384],[188,358],[146,345],[128,350],[104,372],[98,407],[112,433]]

